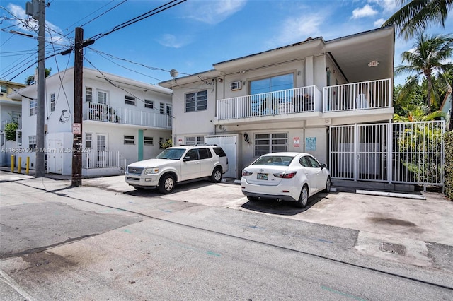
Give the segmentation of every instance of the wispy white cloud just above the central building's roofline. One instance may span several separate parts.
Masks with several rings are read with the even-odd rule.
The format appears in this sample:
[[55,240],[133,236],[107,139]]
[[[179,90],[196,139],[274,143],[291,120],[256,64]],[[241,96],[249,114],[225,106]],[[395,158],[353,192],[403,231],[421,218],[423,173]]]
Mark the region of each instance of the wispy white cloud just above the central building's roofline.
[[280,33],[273,39],[275,45],[287,45],[306,40],[307,37],[318,37],[319,27],[323,25],[325,16],[322,13],[288,18],[283,22]]

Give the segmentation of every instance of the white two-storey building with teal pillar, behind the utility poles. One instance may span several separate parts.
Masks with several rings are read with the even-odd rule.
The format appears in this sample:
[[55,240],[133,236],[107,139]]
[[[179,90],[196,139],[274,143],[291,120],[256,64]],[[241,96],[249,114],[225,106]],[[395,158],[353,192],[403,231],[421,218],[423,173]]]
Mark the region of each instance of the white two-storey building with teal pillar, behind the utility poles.
[[[171,138],[171,90],[92,69],[84,69],[82,175],[120,175],[127,164],[156,156]],[[47,172],[71,175],[74,69],[46,78]],[[11,95],[22,100],[17,157],[35,165],[37,88]],[[25,166],[22,166],[25,167]]]

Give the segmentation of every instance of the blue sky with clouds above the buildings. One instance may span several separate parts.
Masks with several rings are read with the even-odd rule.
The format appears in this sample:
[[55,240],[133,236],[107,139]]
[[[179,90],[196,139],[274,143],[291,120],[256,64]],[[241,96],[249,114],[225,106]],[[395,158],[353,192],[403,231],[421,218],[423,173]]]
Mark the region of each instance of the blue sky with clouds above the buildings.
[[[17,83],[33,75],[38,50],[38,26],[33,21],[28,26],[18,21],[27,19],[25,2],[2,0],[0,4],[0,78]],[[109,33],[115,26],[169,1],[48,2],[46,38],[55,43],[47,45],[46,56],[69,47],[74,42],[74,28],[82,27],[84,38],[103,34],[85,48],[85,67],[156,85],[171,79],[171,69],[181,75],[199,73],[212,69],[212,64],[300,42],[307,37],[332,40],[379,28],[397,11],[399,3],[397,0],[187,0]],[[446,29],[432,27],[428,31],[452,33],[449,30],[453,28],[452,19],[447,19]],[[33,26],[36,32],[30,29]],[[413,40],[396,38],[395,64],[401,64],[401,53],[412,45]],[[55,74],[74,66],[74,54],[51,57],[45,66]],[[396,83],[403,80],[396,78]]]

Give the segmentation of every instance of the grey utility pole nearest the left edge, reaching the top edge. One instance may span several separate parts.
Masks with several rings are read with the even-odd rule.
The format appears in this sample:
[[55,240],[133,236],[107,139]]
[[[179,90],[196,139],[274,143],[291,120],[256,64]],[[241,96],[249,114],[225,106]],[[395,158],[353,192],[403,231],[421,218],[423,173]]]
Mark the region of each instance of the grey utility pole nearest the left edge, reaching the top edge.
[[45,0],[27,2],[26,13],[38,20],[38,97],[36,107],[35,177],[45,176]]

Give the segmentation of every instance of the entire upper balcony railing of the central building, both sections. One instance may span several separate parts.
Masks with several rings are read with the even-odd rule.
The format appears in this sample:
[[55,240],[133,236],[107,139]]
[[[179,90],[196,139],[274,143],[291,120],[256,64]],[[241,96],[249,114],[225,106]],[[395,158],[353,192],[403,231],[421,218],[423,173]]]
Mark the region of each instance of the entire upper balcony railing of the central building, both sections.
[[217,119],[387,108],[391,107],[391,92],[391,80],[384,79],[324,87],[322,96],[314,85],[245,95],[217,100]]

